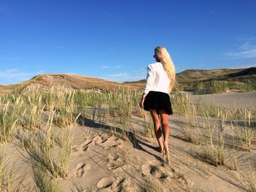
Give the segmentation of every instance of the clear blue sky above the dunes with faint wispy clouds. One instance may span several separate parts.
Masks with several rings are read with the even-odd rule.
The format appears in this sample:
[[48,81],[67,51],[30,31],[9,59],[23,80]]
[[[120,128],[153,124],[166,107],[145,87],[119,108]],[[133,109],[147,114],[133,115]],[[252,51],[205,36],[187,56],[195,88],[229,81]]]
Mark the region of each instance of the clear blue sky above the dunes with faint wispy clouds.
[[256,66],[255,0],[0,0],[0,84],[42,73],[146,78],[154,47],[176,72]]

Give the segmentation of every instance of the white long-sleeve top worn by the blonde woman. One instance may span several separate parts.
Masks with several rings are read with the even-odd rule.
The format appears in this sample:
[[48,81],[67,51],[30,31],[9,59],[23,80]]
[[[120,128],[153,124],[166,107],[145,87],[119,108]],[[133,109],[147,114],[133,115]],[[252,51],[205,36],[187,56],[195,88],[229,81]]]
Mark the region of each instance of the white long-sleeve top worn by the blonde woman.
[[149,64],[144,93],[148,93],[149,91],[159,91],[169,94],[169,85],[170,79],[162,64],[160,62]]

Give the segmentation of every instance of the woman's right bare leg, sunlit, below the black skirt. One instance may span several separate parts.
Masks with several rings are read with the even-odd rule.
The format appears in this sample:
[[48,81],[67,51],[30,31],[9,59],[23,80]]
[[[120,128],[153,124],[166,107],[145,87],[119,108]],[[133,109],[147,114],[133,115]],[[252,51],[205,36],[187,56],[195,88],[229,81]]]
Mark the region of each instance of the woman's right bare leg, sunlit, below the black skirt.
[[163,110],[160,110],[159,114],[160,114],[161,124],[162,124],[162,134],[164,135],[163,153],[164,155],[169,155],[168,142],[169,142],[170,130],[169,130],[168,114]]

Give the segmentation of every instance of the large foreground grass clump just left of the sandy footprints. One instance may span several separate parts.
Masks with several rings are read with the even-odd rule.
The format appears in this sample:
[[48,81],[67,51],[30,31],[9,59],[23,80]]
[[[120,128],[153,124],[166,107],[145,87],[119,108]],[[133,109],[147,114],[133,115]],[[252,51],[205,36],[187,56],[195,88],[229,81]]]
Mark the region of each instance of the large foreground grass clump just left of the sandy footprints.
[[53,177],[59,176],[65,178],[68,175],[67,167],[72,148],[72,139],[70,139],[70,134],[68,135],[69,138],[63,139],[64,149],[59,150],[59,155],[56,157],[55,151],[58,150],[58,148],[54,146],[54,140],[56,138],[56,129],[53,127],[54,112],[52,107],[46,132],[37,131],[36,136],[32,139],[23,139],[23,144],[25,144],[25,150],[29,154],[28,160],[31,166],[41,169],[44,172],[48,171]]

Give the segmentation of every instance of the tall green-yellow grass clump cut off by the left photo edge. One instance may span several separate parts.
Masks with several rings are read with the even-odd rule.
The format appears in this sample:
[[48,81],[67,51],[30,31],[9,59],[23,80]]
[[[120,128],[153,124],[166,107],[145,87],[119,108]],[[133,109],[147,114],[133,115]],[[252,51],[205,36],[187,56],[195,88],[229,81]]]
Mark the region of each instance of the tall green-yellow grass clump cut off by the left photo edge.
[[4,110],[0,110],[0,142],[12,142],[15,136],[15,126],[18,118],[10,111],[10,101],[4,104]]

